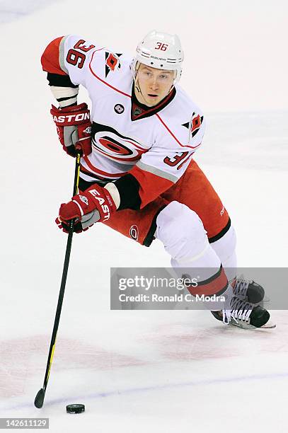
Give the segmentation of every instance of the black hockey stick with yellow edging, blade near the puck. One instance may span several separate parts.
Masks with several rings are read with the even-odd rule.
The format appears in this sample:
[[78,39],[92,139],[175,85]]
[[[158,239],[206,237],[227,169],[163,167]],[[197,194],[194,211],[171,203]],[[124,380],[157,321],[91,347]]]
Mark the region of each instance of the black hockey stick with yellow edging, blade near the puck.
[[[74,186],[73,186],[73,195],[75,195],[78,191],[78,185],[79,185],[79,172],[80,172],[80,151],[77,150],[76,153],[76,163],[75,163],[75,174],[74,174]],[[50,342],[50,350],[47,360],[47,367],[45,372],[45,378],[43,387],[38,391],[37,396],[34,400],[34,405],[36,408],[40,409],[42,408],[44,398],[45,398],[45,392],[47,388],[47,383],[50,375],[50,369],[52,365],[52,359],[54,355],[54,348],[56,343],[56,336],[57,336],[57,330],[59,326],[59,320],[60,320],[60,314],[62,310],[62,304],[63,304],[63,298],[64,298],[64,291],[65,291],[65,285],[66,285],[66,279],[67,279],[67,272],[69,267],[69,260],[70,260],[70,253],[71,253],[71,245],[72,245],[72,237],[73,237],[73,229],[74,229],[74,219],[71,220],[70,226],[69,226],[69,234],[67,239],[67,247],[66,247],[66,253],[65,253],[65,259],[64,259],[64,266],[63,266],[63,272],[62,272],[62,281],[59,291],[59,297],[58,297],[58,304],[57,304],[57,310],[56,310],[56,316],[54,320],[54,328],[52,332],[51,342]]]

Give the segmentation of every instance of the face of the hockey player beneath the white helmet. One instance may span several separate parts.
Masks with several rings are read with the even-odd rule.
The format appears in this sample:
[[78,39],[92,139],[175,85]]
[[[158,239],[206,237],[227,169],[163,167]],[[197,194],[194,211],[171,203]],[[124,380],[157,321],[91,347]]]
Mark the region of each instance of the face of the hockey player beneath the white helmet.
[[173,86],[174,71],[165,71],[140,64],[137,71],[137,81],[141,93],[135,89],[140,103],[153,107],[158,104]]

